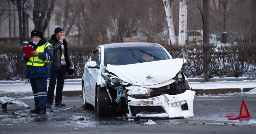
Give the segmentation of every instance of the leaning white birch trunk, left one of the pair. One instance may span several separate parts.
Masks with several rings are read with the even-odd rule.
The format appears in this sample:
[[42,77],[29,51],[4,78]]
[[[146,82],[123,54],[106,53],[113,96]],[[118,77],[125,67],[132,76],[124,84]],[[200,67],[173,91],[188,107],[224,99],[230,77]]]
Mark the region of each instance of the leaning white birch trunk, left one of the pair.
[[173,3],[170,3],[170,0],[163,0],[163,3],[164,3],[165,14],[166,14],[166,20],[168,24],[169,37],[171,39],[171,43],[175,44],[177,43],[177,40],[175,36],[173,16],[172,16]]

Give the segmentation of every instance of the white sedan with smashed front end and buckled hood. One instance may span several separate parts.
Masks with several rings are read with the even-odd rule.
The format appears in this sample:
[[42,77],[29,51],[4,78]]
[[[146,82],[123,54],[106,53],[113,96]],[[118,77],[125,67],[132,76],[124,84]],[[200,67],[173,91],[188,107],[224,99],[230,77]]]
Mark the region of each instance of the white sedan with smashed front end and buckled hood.
[[83,108],[98,116],[116,107],[129,118],[193,117],[195,92],[180,70],[184,64],[156,43],[100,45],[84,67]]

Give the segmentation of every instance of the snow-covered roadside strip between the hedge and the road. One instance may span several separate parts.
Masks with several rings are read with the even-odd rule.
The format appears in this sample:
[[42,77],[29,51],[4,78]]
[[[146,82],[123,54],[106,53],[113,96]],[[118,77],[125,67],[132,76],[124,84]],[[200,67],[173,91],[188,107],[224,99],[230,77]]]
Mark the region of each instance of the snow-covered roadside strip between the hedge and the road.
[[[230,78],[230,79],[234,79],[234,78]],[[193,91],[197,92],[198,95],[199,94],[201,95],[225,94],[229,92],[231,92],[231,94],[234,94],[234,93],[256,94],[256,80],[188,82],[188,84]],[[26,82],[19,81],[16,83],[8,82],[8,81],[0,81],[0,96],[25,97],[25,96],[31,96],[31,93],[32,93],[31,85],[30,83],[28,83],[28,81]],[[65,80],[63,93],[66,93],[66,95],[64,96],[80,96],[82,94],[82,79]]]

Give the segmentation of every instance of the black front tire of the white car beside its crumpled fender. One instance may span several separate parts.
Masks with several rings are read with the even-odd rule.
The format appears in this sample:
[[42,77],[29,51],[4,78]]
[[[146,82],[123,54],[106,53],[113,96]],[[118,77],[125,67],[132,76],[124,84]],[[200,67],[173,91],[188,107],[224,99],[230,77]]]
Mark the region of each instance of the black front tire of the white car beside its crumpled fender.
[[97,115],[107,116],[109,111],[108,94],[105,88],[97,87]]

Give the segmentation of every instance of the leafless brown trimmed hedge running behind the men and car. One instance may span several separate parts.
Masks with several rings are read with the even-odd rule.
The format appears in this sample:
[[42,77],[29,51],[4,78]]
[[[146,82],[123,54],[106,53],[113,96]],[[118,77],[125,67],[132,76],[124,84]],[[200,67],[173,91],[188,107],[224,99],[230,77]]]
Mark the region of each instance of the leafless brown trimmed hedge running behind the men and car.
[[[85,62],[98,45],[70,45],[69,52],[74,63],[74,74],[66,78],[82,78]],[[165,45],[173,58],[184,58],[187,64],[183,72],[189,77],[240,77],[256,75],[256,45],[253,43],[187,44],[186,46]],[[0,44],[0,80],[24,80],[26,64],[21,61],[21,45]],[[167,68],[168,67],[163,67]],[[171,70],[169,70],[171,71]]]

